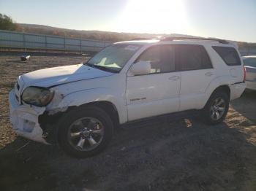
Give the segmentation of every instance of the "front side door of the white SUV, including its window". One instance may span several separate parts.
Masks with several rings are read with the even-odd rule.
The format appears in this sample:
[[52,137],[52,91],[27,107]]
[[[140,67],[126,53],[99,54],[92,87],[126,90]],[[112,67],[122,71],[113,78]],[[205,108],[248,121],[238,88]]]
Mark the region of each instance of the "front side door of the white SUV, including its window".
[[127,76],[128,120],[178,112],[181,72],[176,71],[171,44],[155,45],[135,61],[150,61],[151,74]]

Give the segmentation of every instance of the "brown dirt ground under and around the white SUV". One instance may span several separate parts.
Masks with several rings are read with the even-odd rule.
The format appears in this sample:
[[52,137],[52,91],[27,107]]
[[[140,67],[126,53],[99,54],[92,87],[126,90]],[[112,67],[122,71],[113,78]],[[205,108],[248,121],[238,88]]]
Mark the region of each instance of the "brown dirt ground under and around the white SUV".
[[101,154],[75,159],[19,138],[8,92],[19,74],[85,61],[75,55],[0,53],[0,190],[256,190],[256,92],[232,101],[225,122],[198,119],[121,129]]

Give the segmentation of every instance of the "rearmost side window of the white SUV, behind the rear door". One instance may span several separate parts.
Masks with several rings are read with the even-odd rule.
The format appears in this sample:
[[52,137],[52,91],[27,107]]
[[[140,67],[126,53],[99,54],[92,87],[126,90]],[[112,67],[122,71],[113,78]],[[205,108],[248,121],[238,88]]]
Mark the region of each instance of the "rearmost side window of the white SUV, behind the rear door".
[[241,65],[241,61],[238,52],[233,47],[213,47],[214,50],[219,54],[227,66],[238,66]]

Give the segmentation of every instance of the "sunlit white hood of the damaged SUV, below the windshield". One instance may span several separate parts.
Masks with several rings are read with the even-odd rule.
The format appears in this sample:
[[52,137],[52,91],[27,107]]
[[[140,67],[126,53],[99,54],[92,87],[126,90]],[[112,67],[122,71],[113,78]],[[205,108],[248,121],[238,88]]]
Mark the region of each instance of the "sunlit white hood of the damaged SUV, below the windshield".
[[113,73],[94,69],[81,64],[71,66],[60,66],[49,69],[42,69],[23,74],[21,79],[25,87],[39,86],[51,87],[64,83],[80,81],[83,79],[92,79],[98,77],[108,77]]

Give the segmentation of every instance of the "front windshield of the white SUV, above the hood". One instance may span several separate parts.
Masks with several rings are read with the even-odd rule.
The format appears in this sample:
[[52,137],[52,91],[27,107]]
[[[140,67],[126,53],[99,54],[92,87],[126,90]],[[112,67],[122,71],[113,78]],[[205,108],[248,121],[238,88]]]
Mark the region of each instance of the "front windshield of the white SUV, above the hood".
[[141,47],[138,44],[112,44],[92,57],[86,65],[110,72],[119,72]]

